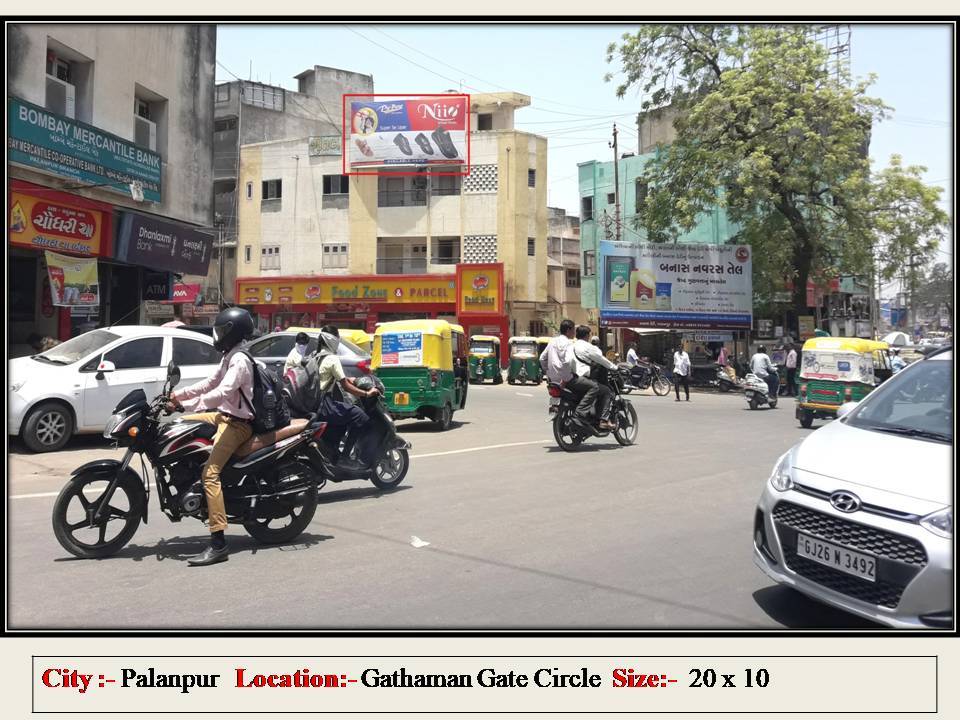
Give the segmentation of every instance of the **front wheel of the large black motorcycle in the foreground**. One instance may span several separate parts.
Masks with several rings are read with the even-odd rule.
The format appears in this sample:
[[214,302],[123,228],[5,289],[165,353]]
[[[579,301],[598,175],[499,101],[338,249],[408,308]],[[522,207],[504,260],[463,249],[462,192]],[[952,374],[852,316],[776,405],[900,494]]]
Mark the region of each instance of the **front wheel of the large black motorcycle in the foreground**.
[[117,483],[103,517],[93,520],[108,482],[102,475],[86,473],[73,478],[57,496],[53,534],[71,555],[86,559],[114,555],[140,527],[147,496],[140,479],[130,473]]

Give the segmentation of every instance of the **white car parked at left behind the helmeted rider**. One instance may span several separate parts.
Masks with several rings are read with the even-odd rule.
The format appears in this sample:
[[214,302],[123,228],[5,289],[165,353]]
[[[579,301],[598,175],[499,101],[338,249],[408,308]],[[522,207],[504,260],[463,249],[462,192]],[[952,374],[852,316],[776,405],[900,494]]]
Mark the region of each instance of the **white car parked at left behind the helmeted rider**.
[[34,452],[62,448],[74,433],[100,433],[116,404],[134,388],[153,398],[167,364],[181,387],[209,377],[221,355],[200,333],[141,325],[91,330],[46,352],[8,363],[8,435]]

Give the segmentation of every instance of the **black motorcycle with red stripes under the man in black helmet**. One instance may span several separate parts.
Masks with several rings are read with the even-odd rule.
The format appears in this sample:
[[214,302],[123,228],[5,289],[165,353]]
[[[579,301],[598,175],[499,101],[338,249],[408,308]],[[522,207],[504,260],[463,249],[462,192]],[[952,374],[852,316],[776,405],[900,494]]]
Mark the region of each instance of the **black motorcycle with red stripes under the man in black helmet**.
[[[123,460],[95,460],[78,467],[53,506],[53,532],[77,557],[113,555],[147,522],[153,468],[160,509],[173,522],[204,520],[207,503],[200,472],[213,447],[216,426],[191,420],[161,424],[180,370],[170,363],[163,391],[152,402],[141,389],[124,397],[103,431],[127,448]],[[250,438],[220,473],[227,518],[262,543],[289,542],[306,529],[325,482],[317,445],[326,423],[316,416],[294,420]],[[130,467],[140,455],[143,476]],[[106,484],[106,488],[102,486]]]

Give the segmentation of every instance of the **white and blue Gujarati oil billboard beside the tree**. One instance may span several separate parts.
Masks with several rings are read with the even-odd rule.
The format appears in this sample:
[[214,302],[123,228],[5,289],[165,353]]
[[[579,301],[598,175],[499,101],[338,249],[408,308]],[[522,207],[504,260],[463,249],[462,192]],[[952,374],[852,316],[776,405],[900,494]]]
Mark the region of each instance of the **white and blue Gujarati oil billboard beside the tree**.
[[748,245],[598,245],[601,325],[751,327],[753,263]]

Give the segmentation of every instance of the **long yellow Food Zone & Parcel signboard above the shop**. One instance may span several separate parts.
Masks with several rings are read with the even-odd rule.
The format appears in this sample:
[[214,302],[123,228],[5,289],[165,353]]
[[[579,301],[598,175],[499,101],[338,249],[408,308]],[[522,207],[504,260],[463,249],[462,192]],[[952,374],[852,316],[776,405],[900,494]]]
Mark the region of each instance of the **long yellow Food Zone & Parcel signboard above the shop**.
[[302,303],[412,305],[456,302],[453,275],[417,277],[327,276],[297,278],[239,278],[237,302],[244,305]]

